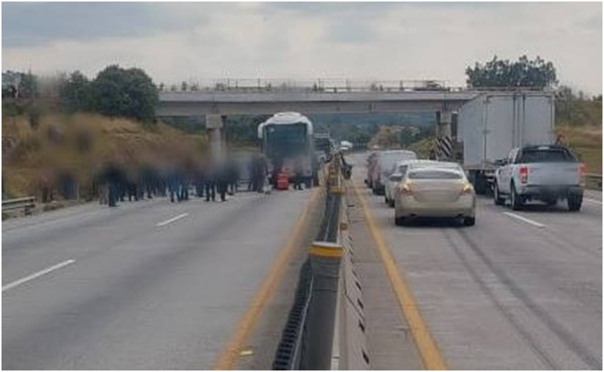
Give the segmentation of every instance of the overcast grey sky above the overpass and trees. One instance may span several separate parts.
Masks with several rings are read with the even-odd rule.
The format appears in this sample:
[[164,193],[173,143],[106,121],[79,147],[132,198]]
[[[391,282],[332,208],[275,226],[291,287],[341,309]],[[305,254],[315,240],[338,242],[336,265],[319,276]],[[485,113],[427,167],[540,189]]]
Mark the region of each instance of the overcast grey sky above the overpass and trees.
[[439,79],[496,54],[551,60],[602,92],[601,3],[2,3],[2,70],[156,82],[216,77]]

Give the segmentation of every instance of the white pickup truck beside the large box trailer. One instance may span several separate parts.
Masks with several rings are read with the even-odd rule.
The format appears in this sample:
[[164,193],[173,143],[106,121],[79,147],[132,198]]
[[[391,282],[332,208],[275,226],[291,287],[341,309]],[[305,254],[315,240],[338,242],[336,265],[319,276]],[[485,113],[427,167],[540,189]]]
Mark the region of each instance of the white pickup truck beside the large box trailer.
[[566,199],[568,209],[578,211],[583,202],[585,165],[566,147],[526,146],[512,149],[495,171],[493,197],[496,205],[510,200],[519,210],[525,202],[542,200],[554,205]]

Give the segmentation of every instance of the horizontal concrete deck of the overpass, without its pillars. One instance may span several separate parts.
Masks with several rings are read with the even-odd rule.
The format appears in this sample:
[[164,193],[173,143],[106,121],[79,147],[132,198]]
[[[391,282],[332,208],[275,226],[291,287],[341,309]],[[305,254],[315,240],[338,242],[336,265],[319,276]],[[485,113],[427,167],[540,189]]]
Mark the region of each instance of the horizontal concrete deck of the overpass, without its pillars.
[[158,117],[341,112],[456,111],[480,91],[160,92]]

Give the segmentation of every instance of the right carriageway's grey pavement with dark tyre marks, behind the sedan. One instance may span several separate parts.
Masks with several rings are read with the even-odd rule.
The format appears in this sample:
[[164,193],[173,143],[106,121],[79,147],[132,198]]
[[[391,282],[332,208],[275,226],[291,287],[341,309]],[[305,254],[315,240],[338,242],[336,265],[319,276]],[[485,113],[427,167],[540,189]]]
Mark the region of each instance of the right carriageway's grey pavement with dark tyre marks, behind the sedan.
[[475,226],[396,226],[366,156],[348,156],[353,181],[449,368],[602,369],[602,193],[579,213],[479,197]]

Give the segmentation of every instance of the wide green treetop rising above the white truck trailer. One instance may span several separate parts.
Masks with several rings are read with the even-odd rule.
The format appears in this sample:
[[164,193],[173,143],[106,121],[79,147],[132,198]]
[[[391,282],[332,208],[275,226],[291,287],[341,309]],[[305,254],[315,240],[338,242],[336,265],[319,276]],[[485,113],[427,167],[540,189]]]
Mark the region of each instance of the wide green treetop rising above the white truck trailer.
[[530,87],[545,88],[557,84],[556,68],[553,63],[545,62],[537,56],[529,60],[521,56],[518,62],[500,60],[494,56],[484,65],[475,63],[474,68],[466,68],[467,85],[478,87]]

